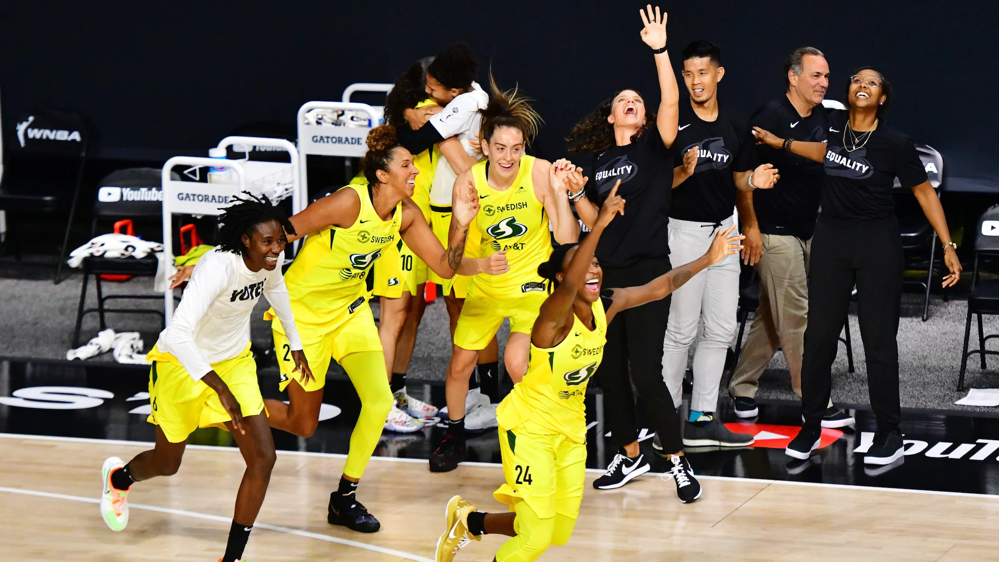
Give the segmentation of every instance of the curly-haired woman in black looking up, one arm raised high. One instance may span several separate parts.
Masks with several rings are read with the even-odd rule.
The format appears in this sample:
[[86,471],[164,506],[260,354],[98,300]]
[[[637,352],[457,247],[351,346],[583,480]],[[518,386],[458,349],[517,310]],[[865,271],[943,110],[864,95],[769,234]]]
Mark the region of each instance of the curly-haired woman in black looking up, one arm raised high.
[[[567,139],[570,151],[592,155],[588,169],[592,180],[585,183],[575,174],[569,182],[573,192],[569,197],[583,224],[592,228],[598,206],[618,180],[620,195],[627,201],[625,219],[608,225],[596,247],[609,286],[640,285],[671,269],[667,233],[679,89],[666,52],[666,14],[651,6],[639,13],[644,24],[640,37],[652,49],[659,77],[657,111],[647,111],[637,91],[620,90],[576,124]],[[597,489],[623,486],[651,468],[638,448],[632,381],[664,453],[683,454],[680,420],[662,380],[662,338],[668,316],[666,296],[624,310],[607,325],[599,385],[610,440],[621,450],[606,474],[593,482]]]

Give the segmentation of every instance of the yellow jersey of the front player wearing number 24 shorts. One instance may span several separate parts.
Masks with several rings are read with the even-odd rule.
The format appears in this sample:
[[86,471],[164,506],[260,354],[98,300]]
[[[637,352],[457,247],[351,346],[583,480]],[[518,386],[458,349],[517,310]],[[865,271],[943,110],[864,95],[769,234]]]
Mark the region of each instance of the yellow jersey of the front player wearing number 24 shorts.
[[607,332],[602,299],[592,308],[596,324],[592,330],[573,314],[572,329],[557,345],[542,349],[530,344],[527,374],[497,408],[500,427],[512,429],[530,422],[532,432],[586,441],[586,384],[603,358]]

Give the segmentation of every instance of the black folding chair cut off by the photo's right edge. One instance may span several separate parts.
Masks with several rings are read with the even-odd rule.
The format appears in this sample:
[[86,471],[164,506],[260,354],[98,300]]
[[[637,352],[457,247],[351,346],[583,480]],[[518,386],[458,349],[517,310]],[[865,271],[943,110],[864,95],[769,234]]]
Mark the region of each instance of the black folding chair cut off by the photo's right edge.
[[[971,274],[971,294],[968,296],[968,317],[964,322],[964,350],[961,352],[961,375],[957,379],[957,389],[964,390],[964,373],[968,367],[968,357],[981,356],[982,370],[985,369],[985,355],[999,355],[999,351],[985,348],[985,341],[999,334],[985,335],[982,328],[982,314],[999,314],[999,280],[979,280],[981,258],[999,257],[999,205],[994,205],[978,220],[975,236],[975,262]],[[968,350],[971,336],[971,315],[978,316],[978,349]]]

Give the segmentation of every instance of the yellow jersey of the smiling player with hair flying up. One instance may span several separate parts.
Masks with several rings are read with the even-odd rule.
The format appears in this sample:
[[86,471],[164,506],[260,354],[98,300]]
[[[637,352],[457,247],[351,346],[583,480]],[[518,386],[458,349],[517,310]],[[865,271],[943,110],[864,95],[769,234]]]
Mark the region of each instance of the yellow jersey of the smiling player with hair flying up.
[[479,255],[487,258],[506,251],[509,271],[500,276],[480,274],[472,282],[491,296],[503,297],[528,290],[544,290],[537,276],[537,266],[551,255],[548,216],[534,195],[530,172],[534,158],[520,157],[520,170],[513,183],[504,191],[490,187],[487,180],[489,161],[472,167],[472,178],[479,191],[479,215],[476,231],[481,238]]

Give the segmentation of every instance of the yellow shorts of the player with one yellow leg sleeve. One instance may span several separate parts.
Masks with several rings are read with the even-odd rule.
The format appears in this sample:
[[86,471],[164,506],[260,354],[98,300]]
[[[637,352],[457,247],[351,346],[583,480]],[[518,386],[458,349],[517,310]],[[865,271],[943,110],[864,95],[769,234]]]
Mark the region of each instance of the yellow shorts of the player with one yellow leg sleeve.
[[345,310],[340,320],[332,328],[324,331],[313,330],[308,325],[298,324],[299,336],[302,338],[302,350],[305,351],[306,359],[309,360],[309,368],[312,369],[315,377],[315,380],[306,384],[302,383],[302,373],[293,372],[295,359],[292,358],[292,346],[285,335],[281,320],[278,318],[272,320],[274,351],[277,353],[278,368],[281,370],[281,380],[278,382],[279,390],[287,388],[292,378],[298,380],[299,384],[308,392],[319,390],[326,386],[326,371],[330,369],[331,359],[339,363],[348,353],[358,351],[383,352],[378,326],[375,325],[375,316],[372,314],[367,298],[353,312]]

